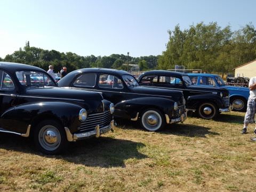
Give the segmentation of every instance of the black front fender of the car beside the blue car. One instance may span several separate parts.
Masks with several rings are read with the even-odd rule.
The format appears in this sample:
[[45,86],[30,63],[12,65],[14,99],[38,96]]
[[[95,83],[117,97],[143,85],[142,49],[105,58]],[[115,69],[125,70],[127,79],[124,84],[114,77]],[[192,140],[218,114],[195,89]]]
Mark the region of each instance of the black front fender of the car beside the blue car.
[[219,95],[215,94],[200,94],[200,95],[191,95],[187,99],[186,107],[188,109],[197,109],[199,103],[202,102],[213,102],[218,108],[221,108],[223,105],[222,99]]

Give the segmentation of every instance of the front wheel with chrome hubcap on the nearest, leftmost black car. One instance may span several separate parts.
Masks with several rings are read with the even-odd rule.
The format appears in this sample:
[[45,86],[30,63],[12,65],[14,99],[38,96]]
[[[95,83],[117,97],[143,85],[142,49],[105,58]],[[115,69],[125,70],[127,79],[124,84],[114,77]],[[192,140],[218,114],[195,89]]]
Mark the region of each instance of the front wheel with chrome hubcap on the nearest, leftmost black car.
[[[49,134],[54,137],[51,137]],[[35,127],[34,142],[36,148],[47,155],[60,154],[68,147],[64,127],[57,121],[52,120],[42,121]]]

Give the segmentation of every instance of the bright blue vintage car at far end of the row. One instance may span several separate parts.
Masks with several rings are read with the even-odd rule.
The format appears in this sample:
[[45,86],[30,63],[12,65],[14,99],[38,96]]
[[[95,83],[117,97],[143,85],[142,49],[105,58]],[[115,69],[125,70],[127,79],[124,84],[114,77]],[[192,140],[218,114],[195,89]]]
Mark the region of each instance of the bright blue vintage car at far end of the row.
[[191,81],[200,86],[215,86],[225,88],[230,94],[230,103],[233,105],[234,111],[245,111],[247,106],[247,100],[250,95],[248,87],[230,86],[226,85],[223,79],[214,74],[187,74]]

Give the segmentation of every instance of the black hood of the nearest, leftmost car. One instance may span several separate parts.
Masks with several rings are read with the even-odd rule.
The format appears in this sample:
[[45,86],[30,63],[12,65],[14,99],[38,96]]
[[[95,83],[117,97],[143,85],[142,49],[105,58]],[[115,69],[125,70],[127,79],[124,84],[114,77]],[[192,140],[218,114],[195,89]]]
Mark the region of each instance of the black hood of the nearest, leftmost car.
[[81,99],[81,100],[102,100],[103,97],[98,92],[75,90],[71,88],[61,87],[36,87],[26,90],[27,95],[38,97],[52,97],[52,98],[67,98],[67,99]]

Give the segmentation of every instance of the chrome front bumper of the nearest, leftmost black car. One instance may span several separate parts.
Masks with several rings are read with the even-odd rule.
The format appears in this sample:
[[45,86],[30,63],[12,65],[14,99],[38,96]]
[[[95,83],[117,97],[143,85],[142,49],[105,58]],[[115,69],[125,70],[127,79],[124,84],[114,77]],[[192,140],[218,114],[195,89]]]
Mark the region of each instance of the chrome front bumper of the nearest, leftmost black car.
[[89,131],[89,132],[82,132],[82,133],[75,133],[75,134],[71,134],[68,127],[65,127],[65,131],[67,134],[67,139],[68,141],[77,141],[77,140],[82,140],[82,139],[86,139],[89,137],[92,137],[95,135],[95,137],[100,137],[101,134],[103,133],[107,133],[109,131],[114,131],[114,120],[112,120],[110,122],[109,125],[105,126],[105,127],[101,127],[99,125],[95,126],[95,130],[93,131]]

